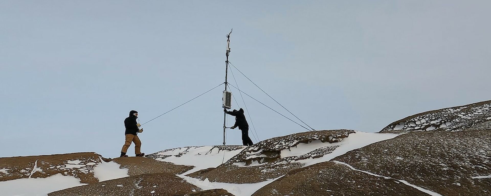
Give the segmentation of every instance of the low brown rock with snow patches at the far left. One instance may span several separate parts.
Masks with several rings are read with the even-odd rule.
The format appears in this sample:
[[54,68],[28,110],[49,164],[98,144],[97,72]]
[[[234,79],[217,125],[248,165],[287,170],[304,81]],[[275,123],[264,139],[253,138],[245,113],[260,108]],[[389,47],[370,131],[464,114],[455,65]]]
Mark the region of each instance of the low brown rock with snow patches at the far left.
[[181,174],[192,168],[142,157],[111,160],[94,152],[7,157],[0,158],[0,190],[2,196],[19,193],[37,196],[39,192],[106,183],[127,176],[162,172]]

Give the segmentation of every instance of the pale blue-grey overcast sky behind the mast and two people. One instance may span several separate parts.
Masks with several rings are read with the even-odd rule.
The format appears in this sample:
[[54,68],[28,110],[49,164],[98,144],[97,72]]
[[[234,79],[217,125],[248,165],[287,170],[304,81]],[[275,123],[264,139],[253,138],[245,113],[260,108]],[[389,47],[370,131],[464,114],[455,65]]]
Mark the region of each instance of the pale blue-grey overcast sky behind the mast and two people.
[[[130,110],[144,123],[224,82],[231,28],[230,62],[317,130],[378,132],[416,113],[489,100],[490,7],[488,0],[1,0],[0,157],[119,156]],[[295,119],[232,71],[244,92]],[[229,72],[236,86],[233,78]],[[142,151],[221,145],[223,88],[143,125]],[[232,93],[233,107],[244,107]],[[254,143],[307,131],[243,96]],[[238,129],[227,132],[227,145],[242,144]]]

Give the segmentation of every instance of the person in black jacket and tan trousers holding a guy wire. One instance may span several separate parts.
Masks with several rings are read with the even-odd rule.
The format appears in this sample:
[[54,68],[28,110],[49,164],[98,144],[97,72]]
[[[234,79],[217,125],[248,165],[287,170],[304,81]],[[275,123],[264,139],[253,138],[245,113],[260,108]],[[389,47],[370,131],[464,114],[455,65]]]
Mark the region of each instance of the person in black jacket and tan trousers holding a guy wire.
[[143,129],[139,129],[140,124],[136,123],[136,119],[138,118],[138,112],[135,110],[130,111],[130,116],[124,120],[124,126],[126,128],[125,136],[126,140],[121,149],[120,157],[128,157],[126,155],[126,151],[131,145],[131,142],[135,143],[135,154],[136,156],[143,156],[145,153],[141,153],[141,141],[136,134],[143,132]]

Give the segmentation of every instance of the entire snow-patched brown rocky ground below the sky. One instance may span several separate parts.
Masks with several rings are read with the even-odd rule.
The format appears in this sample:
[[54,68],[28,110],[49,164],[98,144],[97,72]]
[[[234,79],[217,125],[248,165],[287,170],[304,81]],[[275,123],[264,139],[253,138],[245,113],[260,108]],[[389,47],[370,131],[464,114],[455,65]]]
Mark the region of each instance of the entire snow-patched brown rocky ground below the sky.
[[491,195],[490,141],[491,101],[484,101],[412,115],[379,133],[308,131],[249,147],[179,147],[144,158],[93,152],[0,158],[0,190],[2,196],[485,196]]

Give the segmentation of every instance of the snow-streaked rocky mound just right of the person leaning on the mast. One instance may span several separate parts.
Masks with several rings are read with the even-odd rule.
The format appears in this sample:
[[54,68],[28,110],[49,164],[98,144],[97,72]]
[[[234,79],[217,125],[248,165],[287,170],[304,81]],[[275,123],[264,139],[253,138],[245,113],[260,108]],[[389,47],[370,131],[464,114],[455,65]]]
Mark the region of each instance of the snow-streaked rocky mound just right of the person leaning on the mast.
[[395,136],[354,130],[296,133],[261,141],[246,147],[217,168],[197,171],[188,176],[203,180],[208,178],[214,182],[257,183]]

